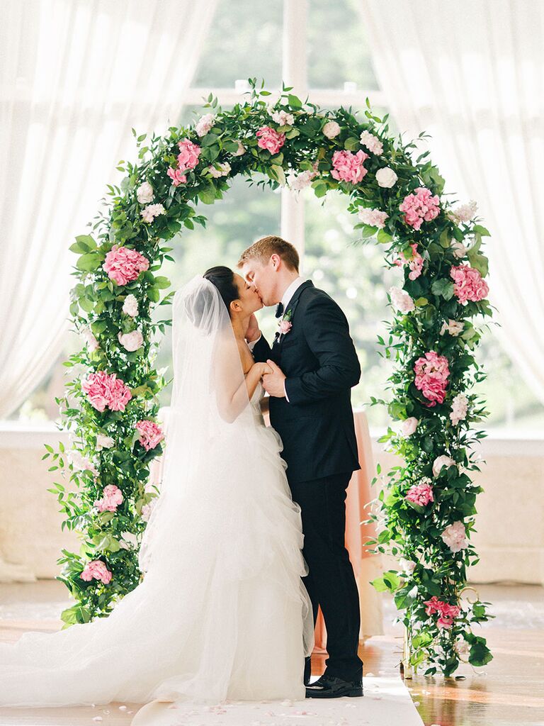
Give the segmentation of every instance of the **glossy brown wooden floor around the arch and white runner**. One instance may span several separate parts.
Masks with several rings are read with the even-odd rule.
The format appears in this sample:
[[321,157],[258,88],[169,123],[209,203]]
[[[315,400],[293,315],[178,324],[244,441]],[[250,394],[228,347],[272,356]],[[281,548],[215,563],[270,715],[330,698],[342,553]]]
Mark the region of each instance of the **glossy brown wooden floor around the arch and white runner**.
[[[421,718],[426,726],[544,726],[544,589],[481,585],[477,590],[482,600],[493,603],[495,620],[481,632],[495,657],[477,672],[463,666],[458,678],[406,680]],[[0,640],[15,642],[27,630],[59,629],[58,614],[66,606],[67,591],[54,580],[0,584]],[[385,635],[370,638],[360,648],[365,675],[399,672],[402,629],[392,624],[394,618],[395,608],[384,598]],[[323,672],[325,658],[314,653],[313,674]],[[130,723],[131,704],[122,710],[120,705],[96,707],[94,714],[103,717],[102,726]],[[17,721],[7,721],[0,713],[0,724],[92,723],[88,710],[81,712],[81,719],[70,720],[62,717],[62,709],[36,711],[26,711]]]

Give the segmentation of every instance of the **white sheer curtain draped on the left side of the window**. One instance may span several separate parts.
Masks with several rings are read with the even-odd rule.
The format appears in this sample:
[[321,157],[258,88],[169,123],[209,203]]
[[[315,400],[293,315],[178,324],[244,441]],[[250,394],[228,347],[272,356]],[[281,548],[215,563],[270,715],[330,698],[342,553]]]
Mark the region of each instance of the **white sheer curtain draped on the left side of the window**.
[[176,123],[217,0],[0,1],[2,419],[59,355],[68,247],[136,160],[131,127]]

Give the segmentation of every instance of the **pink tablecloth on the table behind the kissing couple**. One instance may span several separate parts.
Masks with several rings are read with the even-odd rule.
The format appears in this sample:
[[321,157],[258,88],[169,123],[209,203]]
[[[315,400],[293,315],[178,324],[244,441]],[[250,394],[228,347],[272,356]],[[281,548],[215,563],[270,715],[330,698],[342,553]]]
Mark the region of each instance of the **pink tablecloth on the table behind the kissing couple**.
[[[159,418],[163,423],[165,437],[168,442],[168,407],[160,409]],[[265,419],[268,417],[265,416]],[[347,487],[346,497],[346,538],[347,551],[355,572],[360,601],[360,640],[371,635],[382,635],[382,601],[379,594],[371,586],[370,581],[382,573],[379,555],[372,555],[365,547],[369,537],[374,536],[374,525],[362,525],[368,519],[368,507],[365,505],[374,499],[377,490],[371,490],[371,481],[376,474],[372,457],[372,445],[368,422],[363,411],[355,412],[355,434],[359,453],[360,470],[355,471]],[[149,484],[160,489],[163,457],[154,459],[151,464]],[[315,652],[324,652],[326,645],[326,628],[321,609],[316,623]]]

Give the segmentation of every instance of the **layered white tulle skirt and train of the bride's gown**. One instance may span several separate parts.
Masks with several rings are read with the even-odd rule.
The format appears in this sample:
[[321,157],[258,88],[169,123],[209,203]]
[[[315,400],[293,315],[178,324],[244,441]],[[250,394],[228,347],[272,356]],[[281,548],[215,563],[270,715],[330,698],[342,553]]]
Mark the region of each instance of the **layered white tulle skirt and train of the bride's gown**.
[[144,580],[110,616],[0,644],[1,706],[304,698],[300,507],[278,434],[254,423],[244,457],[210,441],[179,472]]

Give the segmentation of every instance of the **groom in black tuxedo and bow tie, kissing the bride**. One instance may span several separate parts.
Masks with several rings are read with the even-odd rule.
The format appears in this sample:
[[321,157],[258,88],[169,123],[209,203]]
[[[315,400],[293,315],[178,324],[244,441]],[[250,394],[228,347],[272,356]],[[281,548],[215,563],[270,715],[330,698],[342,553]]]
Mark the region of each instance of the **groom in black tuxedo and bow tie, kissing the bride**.
[[309,569],[303,580],[314,625],[321,605],[327,631],[326,670],[311,684],[306,658],[306,696],[363,696],[359,597],[345,549],[346,489],[360,469],[350,402],[360,365],[347,319],[327,293],[300,277],[297,250],[281,237],[257,240],[238,267],[264,305],[278,303],[272,347],[254,316],[247,342],[255,361],[272,368],[263,386],[271,396],[271,425],[284,444],[292,497],[302,511]]

